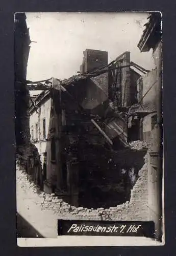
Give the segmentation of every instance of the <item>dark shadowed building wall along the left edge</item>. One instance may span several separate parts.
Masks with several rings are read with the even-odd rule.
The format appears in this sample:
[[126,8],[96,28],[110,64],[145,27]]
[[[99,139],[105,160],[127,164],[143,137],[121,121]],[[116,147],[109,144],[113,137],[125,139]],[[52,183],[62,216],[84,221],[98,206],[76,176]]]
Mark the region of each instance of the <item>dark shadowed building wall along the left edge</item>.
[[[33,180],[42,187],[40,155],[30,140],[30,93],[26,86],[27,65],[31,39],[25,13],[15,13],[14,55],[15,55],[15,143],[16,160]],[[37,182],[37,181],[40,181]]]

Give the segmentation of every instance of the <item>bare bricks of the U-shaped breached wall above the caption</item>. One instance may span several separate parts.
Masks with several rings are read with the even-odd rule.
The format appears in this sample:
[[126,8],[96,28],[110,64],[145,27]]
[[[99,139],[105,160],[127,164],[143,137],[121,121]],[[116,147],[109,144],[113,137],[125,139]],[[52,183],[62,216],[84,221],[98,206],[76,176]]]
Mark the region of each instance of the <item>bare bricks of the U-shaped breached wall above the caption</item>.
[[[151,199],[155,190],[154,173],[148,168],[150,158],[144,157],[145,164],[139,170],[139,178],[131,190],[130,201],[109,208],[76,207],[66,203],[61,196],[41,192],[35,183],[31,183],[33,191],[37,191],[41,198],[41,208],[52,210],[62,219],[74,220],[114,220],[114,221],[154,221],[158,226],[158,218],[150,209]],[[20,168],[25,169],[25,165]],[[26,174],[27,175],[27,174]],[[32,185],[33,184],[33,185]],[[155,208],[155,207],[154,207]]]

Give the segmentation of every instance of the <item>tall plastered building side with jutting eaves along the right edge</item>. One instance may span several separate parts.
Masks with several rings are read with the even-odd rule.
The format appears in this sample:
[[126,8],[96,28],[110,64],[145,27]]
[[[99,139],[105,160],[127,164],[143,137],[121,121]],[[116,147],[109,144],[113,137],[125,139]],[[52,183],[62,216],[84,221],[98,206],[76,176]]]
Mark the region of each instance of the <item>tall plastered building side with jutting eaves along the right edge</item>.
[[[162,172],[162,34],[161,13],[150,14],[138,43],[141,52],[153,49],[156,68],[143,75],[138,86],[138,100],[148,112],[143,118],[143,138],[150,142],[148,149],[148,208],[149,219],[155,221],[157,236],[161,236],[163,172]],[[142,53],[141,53],[142,54]],[[162,230],[163,231],[163,230]]]

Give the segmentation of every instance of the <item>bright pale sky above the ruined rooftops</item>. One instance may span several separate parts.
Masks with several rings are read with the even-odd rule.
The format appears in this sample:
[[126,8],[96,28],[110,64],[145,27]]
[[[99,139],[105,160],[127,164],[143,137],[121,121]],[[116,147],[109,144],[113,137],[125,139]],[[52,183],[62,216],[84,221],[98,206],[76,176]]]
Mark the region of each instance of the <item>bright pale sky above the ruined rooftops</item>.
[[76,75],[85,49],[104,50],[109,62],[125,51],[146,69],[154,68],[152,51],[137,44],[147,13],[26,13],[32,41],[27,79],[32,81]]

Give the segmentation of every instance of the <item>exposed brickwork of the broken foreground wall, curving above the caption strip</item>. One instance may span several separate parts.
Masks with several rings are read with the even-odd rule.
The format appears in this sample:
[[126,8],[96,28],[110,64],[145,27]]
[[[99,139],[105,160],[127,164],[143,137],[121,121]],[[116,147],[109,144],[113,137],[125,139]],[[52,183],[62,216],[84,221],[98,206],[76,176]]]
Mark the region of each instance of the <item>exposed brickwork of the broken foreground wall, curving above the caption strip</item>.
[[[146,157],[145,157],[146,158]],[[22,173],[21,167],[17,167],[18,172]],[[38,194],[36,204],[40,204],[42,210],[50,210],[58,216],[58,218],[69,218],[78,220],[148,220],[148,182],[147,182],[147,162],[139,171],[139,179],[131,191],[130,202],[125,202],[116,207],[104,209],[103,207],[97,209],[88,209],[83,207],[71,206],[64,202],[54,194],[41,193],[39,188],[33,181],[28,178],[28,175],[23,172],[22,180],[17,177],[17,184],[27,186],[28,189],[33,190],[34,194]],[[20,203],[20,202],[19,202]],[[18,205],[18,202],[17,202]],[[24,209],[26,210],[26,209]]]

